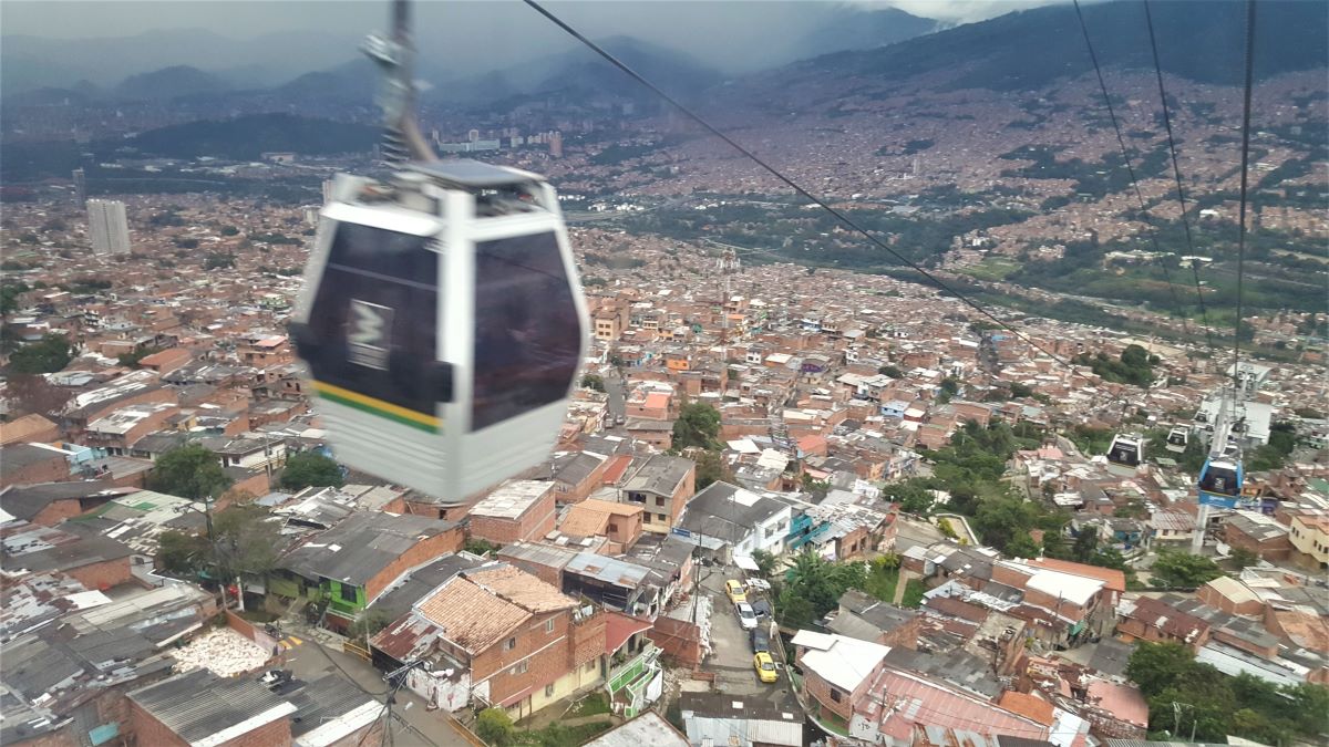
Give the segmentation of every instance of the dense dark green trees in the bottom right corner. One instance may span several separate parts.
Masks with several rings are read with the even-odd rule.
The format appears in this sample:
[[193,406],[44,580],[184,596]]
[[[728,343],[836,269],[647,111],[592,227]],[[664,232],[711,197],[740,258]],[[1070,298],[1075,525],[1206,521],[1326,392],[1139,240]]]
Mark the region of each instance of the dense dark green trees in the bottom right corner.
[[[1318,743],[1329,731],[1329,689],[1321,685],[1271,685],[1257,677],[1227,677],[1180,643],[1139,643],[1126,674],[1140,686],[1150,704],[1150,730],[1175,726],[1200,742],[1225,742],[1228,735],[1264,744]],[[1177,720],[1174,703],[1188,703]]]

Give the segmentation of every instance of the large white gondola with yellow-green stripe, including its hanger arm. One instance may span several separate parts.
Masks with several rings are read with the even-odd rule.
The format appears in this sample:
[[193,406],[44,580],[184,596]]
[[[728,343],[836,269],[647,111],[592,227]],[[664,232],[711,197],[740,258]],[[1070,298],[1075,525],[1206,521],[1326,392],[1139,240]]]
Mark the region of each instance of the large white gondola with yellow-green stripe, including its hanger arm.
[[586,302],[554,189],[538,174],[439,161],[415,118],[411,16],[365,53],[383,181],[338,174],[292,314],[336,459],[444,500],[540,464],[586,355]]

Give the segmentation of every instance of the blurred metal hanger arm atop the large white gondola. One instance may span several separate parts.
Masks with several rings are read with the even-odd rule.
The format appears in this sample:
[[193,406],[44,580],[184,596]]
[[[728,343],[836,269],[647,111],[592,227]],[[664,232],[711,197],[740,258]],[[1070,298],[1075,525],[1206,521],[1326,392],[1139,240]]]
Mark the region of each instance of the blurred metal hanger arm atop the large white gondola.
[[383,70],[379,108],[383,109],[383,160],[387,163],[435,161],[416,122],[415,45],[411,41],[411,4],[392,1],[392,36],[371,33],[361,51]]

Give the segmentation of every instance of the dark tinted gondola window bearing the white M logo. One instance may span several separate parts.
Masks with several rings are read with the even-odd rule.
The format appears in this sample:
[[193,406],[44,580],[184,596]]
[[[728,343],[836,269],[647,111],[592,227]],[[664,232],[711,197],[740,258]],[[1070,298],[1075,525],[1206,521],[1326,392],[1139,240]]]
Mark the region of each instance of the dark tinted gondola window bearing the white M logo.
[[439,255],[431,237],[340,223],[302,340],[314,379],[435,415]]

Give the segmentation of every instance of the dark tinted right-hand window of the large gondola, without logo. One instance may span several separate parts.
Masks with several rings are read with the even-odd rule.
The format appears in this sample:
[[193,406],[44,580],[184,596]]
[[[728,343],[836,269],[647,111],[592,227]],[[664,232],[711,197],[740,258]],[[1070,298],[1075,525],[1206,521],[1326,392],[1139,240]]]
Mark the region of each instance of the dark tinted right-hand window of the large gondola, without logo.
[[554,234],[477,243],[472,431],[567,396],[579,354],[577,303]]

